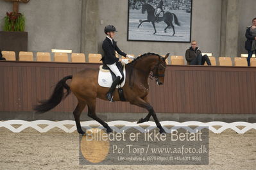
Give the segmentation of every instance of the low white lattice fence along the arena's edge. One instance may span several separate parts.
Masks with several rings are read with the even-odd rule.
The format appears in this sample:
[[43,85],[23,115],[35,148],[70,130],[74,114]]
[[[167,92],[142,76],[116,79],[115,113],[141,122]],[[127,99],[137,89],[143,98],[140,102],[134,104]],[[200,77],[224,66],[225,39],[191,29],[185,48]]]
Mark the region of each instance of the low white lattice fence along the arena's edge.
[[[177,121],[161,121],[162,127],[166,130],[167,133],[170,133],[171,130],[175,130],[178,128],[185,128],[189,130],[189,132],[195,132],[196,130],[200,130],[202,128],[209,128],[210,131],[219,134],[226,129],[232,129],[238,134],[244,134],[248,130],[255,129],[256,123],[248,123],[243,121],[237,121],[233,123],[225,123],[222,121],[211,121],[208,123],[202,123],[200,121],[185,121],[185,122],[177,122]],[[20,125],[20,127],[13,127],[12,125]],[[44,128],[40,127],[40,125],[44,125]],[[69,125],[69,127],[65,127]],[[123,132],[123,130],[127,130],[128,128],[136,128],[141,132],[148,132],[153,128],[156,128],[155,122],[148,121],[141,124],[137,124],[137,122],[130,121],[110,121],[108,125],[114,128],[115,132]],[[8,120],[8,121],[0,121],[0,128],[8,128],[10,131],[14,133],[22,132],[22,130],[26,128],[34,128],[40,133],[48,132],[52,128],[60,128],[64,130],[64,132],[72,133],[76,130],[75,121],[64,120],[64,121],[49,121],[49,120],[35,120],[35,121],[24,121],[24,120]],[[83,121],[81,122],[81,127],[92,128],[98,127],[103,128],[97,121]],[[192,127],[192,128],[191,128]],[[219,127],[219,128],[215,128]],[[238,127],[242,127],[241,129]]]

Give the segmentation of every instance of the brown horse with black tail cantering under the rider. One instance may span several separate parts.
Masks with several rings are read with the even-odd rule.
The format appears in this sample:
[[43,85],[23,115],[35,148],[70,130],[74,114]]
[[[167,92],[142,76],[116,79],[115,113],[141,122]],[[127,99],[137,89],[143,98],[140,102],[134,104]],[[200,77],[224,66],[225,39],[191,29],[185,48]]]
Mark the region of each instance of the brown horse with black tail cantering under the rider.
[[[164,84],[165,60],[168,56],[169,54],[166,54],[165,58],[163,58],[153,53],[139,56],[132,63],[126,65],[126,82],[123,86],[124,97],[127,102],[148,110],[148,115],[145,118],[141,118],[137,123],[149,121],[150,116],[153,116],[160,133],[165,132],[164,128],[160,125],[153,107],[147,100],[149,93],[148,77],[152,72],[151,76],[155,77],[156,83],[158,85]],[[34,107],[34,110],[39,113],[47,112],[60,104],[72,91],[78,98],[78,105],[73,112],[78,133],[85,134],[81,129],[80,115],[86,105],[88,105],[88,116],[107,128],[107,132],[112,132],[108,124],[96,115],[96,98],[107,100],[105,95],[108,92],[108,88],[98,85],[98,72],[99,69],[82,70],[75,75],[64,77],[56,84],[51,97],[48,100],[41,101],[39,105]],[[66,84],[67,79],[72,79],[70,87]],[[66,94],[64,94],[64,88],[67,90]],[[114,100],[120,100],[116,89],[114,91]]]

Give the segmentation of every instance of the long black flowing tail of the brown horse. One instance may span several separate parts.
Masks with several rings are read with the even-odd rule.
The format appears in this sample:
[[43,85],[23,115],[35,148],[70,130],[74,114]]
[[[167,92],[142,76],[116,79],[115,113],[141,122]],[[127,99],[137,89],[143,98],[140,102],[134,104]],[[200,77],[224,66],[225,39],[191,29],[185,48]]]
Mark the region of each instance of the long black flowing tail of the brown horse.
[[[35,105],[33,110],[36,111],[37,113],[43,113],[53,109],[54,107],[56,107],[56,105],[60,104],[60,102],[62,102],[62,100],[66,98],[67,95],[69,95],[69,93],[71,92],[69,86],[66,84],[66,81],[68,79],[72,79],[72,77],[73,77],[72,75],[69,75],[61,79],[56,84],[51,97],[48,100],[40,101],[39,102],[40,104]],[[67,90],[66,93],[64,93],[64,88]]]

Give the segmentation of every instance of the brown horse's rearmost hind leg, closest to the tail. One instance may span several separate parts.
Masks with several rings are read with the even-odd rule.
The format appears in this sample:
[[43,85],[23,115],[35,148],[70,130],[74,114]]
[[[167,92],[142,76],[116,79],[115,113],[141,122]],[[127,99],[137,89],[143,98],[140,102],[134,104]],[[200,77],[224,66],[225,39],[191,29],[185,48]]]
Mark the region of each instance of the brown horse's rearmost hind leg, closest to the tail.
[[78,130],[78,133],[82,135],[85,134],[85,132],[83,132],[83,130],[81,129],[80,116],[83,109],[85,109],[85,105],[85,102],[78,100],[78,105],[76,105],[76,109],[74,109],[73,112],[74,120],[76,121],[76,129]]

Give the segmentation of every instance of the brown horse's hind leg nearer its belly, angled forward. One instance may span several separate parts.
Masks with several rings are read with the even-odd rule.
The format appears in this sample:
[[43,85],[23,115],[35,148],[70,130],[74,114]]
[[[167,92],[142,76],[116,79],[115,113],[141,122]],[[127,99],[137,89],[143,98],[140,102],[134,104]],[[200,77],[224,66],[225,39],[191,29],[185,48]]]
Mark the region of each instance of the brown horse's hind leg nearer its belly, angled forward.
[[96,115],[96,98],[94,100],[90,100],[90,102],[88,102],[88,116],[96,121],[98,121],[99,123],[101,123],[101,125],[103,125],[103,127],[107,128],[107,132],[112,132],[112,129],[108,126],[108,124],[101,120],[100,118],[98,118],[98,116]]

